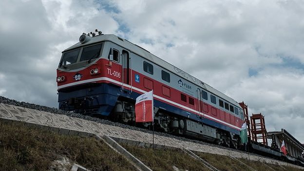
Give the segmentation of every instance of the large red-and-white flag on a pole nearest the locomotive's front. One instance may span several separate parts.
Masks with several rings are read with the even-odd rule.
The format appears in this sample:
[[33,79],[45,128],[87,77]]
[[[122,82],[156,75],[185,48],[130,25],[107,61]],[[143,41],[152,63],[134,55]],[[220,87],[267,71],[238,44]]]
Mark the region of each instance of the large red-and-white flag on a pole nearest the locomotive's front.
[[135,122],[153,122],[153,90],[139,95],[135,103]]

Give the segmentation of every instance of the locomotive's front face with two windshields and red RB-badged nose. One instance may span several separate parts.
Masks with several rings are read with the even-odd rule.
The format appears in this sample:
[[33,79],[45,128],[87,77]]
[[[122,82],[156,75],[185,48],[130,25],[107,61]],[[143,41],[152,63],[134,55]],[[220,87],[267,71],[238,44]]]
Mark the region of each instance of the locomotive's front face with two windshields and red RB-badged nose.
[[[100,31],[95,30],[99,35]],[[92,37],[90,37],[90,35]],[[103,42],[95,39],[95,33],[82,34],[79,42],[62,52],[57,68],[58,90],[96,81],[102,71],[101,58]]]

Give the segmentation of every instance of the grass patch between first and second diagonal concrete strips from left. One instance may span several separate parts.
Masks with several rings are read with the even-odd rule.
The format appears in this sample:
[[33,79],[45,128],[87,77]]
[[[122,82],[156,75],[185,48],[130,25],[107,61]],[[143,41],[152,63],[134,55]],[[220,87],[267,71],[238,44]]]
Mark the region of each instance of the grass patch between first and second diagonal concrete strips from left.
[[174,171],[173,166],[179,170],[209,171],[203,163],[180,149],[153,150],[152,148],[140,148],[125,144],[122,146],[153,171]]

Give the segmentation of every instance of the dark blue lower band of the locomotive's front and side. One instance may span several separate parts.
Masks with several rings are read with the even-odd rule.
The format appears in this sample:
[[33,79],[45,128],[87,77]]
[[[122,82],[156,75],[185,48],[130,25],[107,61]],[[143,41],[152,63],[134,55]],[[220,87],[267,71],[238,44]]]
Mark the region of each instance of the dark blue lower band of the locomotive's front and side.
[[[94,113],[108,116],[112,112],[118,97],[125,97],[127,99],[134,100],[135,103],[135,99],[139,95],[139,93],[130,92],[129,90],[122,90],[120,86],[114,84],[101,83],[94,86],[76,87],[71,91],[58,91],[58,102],[59,109],[76,112],[81,110],[93,110]],[[230,133],[235,133],[238,135],[240,134],[240,132],[236,129],[213,121],[209,118],[201,118],[197,114],[190,113],[162,101],[154,99],[154,107],[164,109],[170,113],[184,116],[190,118],[191,120],[196,120]]]

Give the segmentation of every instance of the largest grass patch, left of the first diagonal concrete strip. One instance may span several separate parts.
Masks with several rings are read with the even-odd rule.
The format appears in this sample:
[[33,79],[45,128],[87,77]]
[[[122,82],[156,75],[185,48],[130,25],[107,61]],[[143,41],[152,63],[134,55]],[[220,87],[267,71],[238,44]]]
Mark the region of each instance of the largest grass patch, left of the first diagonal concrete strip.
[[46,171],[58,156],[93,171],[134,171],[120,154],[93,137],[60,135],[0,121],[0,171]]

